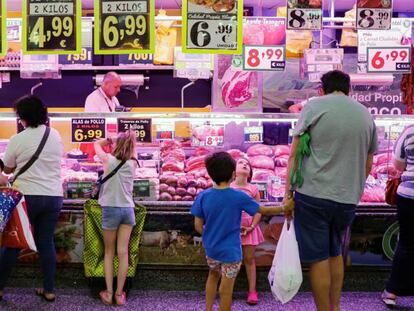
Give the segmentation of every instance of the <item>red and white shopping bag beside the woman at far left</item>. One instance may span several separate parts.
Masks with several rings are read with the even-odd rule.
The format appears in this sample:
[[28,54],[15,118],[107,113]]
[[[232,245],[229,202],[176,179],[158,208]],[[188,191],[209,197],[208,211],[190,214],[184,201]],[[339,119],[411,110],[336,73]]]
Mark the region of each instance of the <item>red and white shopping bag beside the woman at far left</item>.
[[3,231],[2,247],[31,249],[37,251],[32,227],[27,215],[26,201],[21,197]]

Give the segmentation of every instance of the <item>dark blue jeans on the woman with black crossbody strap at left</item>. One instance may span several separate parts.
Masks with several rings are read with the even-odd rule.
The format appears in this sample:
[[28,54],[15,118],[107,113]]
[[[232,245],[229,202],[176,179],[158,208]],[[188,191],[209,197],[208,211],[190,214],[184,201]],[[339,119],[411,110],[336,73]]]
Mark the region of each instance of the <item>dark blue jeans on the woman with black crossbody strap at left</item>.
[[[26,207],[32,225],[36,247],[40,256],[43,273],[43,288],[53,292],[56,274],[56,251],[54,232],[62,209],[63,198],[42,195],[26,195]],[[20,253],[17,248],[4,248],[0,258],[0,290],[6,286],[7,279],[16,264]]]

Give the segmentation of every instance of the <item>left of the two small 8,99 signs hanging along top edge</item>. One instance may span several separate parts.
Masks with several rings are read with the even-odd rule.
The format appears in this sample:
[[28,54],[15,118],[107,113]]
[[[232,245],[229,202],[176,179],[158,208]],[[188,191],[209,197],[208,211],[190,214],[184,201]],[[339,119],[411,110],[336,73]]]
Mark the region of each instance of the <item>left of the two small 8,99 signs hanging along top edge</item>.
[[287,29],[322,29],[322,0],[287,1]]

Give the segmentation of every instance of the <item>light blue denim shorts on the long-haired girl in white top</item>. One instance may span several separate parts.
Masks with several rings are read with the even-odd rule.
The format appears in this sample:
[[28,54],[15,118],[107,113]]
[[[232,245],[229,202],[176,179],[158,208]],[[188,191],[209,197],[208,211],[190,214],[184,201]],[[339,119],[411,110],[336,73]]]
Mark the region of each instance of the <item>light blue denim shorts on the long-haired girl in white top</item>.
[[102,207],[102,229],[117,230],[120,225],[135,226],[133,207]]

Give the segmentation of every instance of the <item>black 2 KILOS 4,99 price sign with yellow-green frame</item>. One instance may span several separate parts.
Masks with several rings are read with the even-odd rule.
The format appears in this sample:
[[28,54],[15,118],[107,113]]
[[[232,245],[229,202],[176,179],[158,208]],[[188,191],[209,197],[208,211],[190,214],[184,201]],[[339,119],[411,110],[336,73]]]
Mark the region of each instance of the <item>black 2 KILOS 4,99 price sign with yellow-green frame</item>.
[[22,10],[23,53],[80,52],[80,0],[25,0]]

